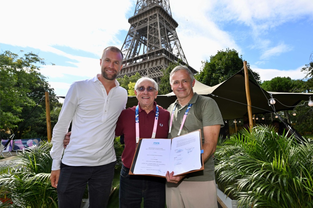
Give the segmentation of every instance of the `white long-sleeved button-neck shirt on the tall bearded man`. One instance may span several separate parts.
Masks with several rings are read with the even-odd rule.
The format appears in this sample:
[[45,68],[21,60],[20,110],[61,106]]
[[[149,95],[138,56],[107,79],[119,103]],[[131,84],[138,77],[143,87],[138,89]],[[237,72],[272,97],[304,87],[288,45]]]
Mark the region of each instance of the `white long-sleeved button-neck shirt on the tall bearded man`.
[[125,109],[127,91],[115,80],[107,95],[99,81],[93,79],[74,82],[67,92],[59,120],[53,128],[50,155],[52,169],[60,169],[63,140],[72,122],[69,145],[64,151],[62,163],[69,166],[100,166],[116,160],[114,132],[116,121]]

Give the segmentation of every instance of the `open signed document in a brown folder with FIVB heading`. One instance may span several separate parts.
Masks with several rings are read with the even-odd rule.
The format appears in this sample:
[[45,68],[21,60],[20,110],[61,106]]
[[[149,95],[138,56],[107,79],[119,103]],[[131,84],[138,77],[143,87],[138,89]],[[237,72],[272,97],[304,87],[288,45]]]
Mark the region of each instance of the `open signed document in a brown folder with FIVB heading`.
[[165,177],[203,170],[201,131],[193,131],[173,139],[139,140],[130,174]]

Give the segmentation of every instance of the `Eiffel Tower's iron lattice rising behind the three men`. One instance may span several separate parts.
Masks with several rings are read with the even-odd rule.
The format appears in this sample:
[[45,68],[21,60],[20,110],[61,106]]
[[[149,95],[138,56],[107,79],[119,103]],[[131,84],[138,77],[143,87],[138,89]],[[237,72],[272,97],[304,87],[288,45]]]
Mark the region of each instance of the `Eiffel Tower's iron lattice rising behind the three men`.
[[[131,24],[122,46],[123,68],[117,78],[128,77],[138,72],[141,77],[158,81],[163,76],[161,70],[171,62],[187,59],[178,40],[169,0],[137,0],[134,16],[128,19]],[[193,73],[195,69],[189,66]]]

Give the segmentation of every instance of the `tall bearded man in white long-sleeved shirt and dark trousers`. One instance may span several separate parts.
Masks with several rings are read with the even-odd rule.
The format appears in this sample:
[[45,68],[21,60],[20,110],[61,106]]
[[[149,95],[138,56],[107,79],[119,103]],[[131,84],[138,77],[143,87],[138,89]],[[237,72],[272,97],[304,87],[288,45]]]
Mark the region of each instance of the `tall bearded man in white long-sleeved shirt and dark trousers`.
[[[79,208],[87,183],[89,207],[107,206],[116,163],[114,130],[127,102],[127,91],[115,79],[122,61],[118,48],[105,48],[100,59],[101,74],[74,82],[65,97],[50,151],[50,181],[57,188],[59,208]],[[71,142],[62,158],[63,140],[71,121]]]

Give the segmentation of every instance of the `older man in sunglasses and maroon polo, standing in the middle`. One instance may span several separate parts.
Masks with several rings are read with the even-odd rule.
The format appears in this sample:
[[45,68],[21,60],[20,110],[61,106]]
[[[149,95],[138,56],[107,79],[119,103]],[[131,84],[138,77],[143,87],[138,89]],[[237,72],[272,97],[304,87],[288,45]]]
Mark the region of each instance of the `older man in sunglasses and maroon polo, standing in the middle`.
[[124,135],[125,142],[120,176],[120,207],[123,208],[140,207],[142,198],[145,207],[165,207],[164,178],[128,174],[139,137],[168,136],[170,113],[156,105],[157,93],[158,86],[153,79],[140,78],[135,84],[138,106],[123,110],[116,123],[115,136]]

